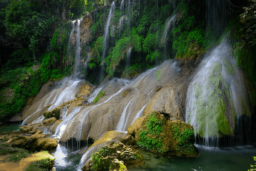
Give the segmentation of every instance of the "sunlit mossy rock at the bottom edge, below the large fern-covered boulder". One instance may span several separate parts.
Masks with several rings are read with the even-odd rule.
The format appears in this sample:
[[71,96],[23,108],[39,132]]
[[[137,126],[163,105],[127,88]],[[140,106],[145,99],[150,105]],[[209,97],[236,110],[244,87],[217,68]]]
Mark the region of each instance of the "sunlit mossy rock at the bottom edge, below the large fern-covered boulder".
[[105,145],[91,155],[92,159],[82,167],[83,171],[108,170],[126,171],[124,164],[140,163],[143,155],[134,147],[126,146],[120,141]]

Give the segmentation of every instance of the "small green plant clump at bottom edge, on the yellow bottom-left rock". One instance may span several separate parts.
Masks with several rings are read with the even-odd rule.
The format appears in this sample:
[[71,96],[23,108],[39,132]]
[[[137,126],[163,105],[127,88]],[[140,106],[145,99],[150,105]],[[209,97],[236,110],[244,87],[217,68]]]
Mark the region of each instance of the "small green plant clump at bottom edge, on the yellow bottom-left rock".
[[51,165],[51,159],[41,159],[31,163],[25,171],[48,171],[49,166]]

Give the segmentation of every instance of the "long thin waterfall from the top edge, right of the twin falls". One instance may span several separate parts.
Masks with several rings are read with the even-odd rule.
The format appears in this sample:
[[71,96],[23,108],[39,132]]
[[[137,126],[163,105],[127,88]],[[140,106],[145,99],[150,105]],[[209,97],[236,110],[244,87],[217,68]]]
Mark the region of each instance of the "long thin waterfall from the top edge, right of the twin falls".
[[104,46],[103,46],[103,54],[102,54],[102,64],[101,64],[101,70],[100,70],[100,82],[103,81],[103,73],[104,73],[104,64],[103,61],[106,57],[106,53],[108,51],[108,29],[109,29],[109,24],[110,24],[110,19],[112,14],[115,12],[115,1],[112,2],[111,6],[110,6],[110,11],[108,13],[108,20],[106,22],[106,26],[105,26],[105,32],[104,32]]

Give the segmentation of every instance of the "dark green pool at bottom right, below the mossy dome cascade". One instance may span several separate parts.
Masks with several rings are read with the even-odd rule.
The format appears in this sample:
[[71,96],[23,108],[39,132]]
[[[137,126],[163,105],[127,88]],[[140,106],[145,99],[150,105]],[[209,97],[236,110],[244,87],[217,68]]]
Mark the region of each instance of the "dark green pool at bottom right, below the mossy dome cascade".
[[128,171],[247,171],[255,164],[253,146],[215,148],[196,145],[197,157],[166,157],[138,149],[145,157],[140,165],[127,166]]

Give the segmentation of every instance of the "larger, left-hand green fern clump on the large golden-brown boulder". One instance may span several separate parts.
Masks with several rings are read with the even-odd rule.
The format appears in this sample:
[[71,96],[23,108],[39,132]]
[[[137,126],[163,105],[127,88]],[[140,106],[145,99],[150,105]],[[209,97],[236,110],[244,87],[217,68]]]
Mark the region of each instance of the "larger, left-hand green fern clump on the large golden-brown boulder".
[[[162,136],[159,136],[164,131],[162,123],[162,120],[156,118],[155,113],[151,113],[146,122],[147,130],[142,129],[139,133],[138,146],[147,150],[157,150],[160,153],[166,151],[162,143]],[[151,134],[151,136],[148,134]]]

